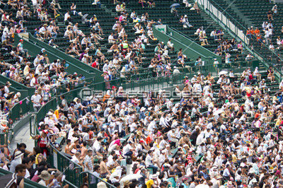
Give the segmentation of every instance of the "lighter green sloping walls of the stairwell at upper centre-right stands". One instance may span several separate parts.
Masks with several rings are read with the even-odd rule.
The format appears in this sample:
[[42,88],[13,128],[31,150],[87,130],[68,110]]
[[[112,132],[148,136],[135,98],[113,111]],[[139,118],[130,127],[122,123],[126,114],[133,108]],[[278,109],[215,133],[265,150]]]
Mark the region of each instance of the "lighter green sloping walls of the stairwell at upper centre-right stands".
[[188,37],[181,35],[177,30],[173,30],[168,26],[166,30],[166,33],[162,33],[154,27],[154,36],[157,37],[158,40],[163,41],[165,44],[167,44],[169,38],[171,38],[171,42],[174,44],[175,49],[178,50],[182,48],[183,54],[190,57],[193,61],[195,61],[198,57],[202,57],[202,60],[207,61],[209,64],[213,64],[214,58],[221,62],[221,57],[216,56],[216,54],[210,52],[201,45],[198,45]]

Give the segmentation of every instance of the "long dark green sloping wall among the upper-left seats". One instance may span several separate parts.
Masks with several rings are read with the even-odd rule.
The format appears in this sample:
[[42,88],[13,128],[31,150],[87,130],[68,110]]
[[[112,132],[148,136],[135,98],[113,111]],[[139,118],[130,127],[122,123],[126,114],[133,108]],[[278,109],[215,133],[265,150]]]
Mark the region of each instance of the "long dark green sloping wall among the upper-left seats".
[[[79,59],[71,57],[64,52],[61,52],[59,49],[56,49],[56,48],[54,48],[50,45],[47,45],[45,42],[37,40],[30,33],[28,35],[28,40],[30,42],[33,42],[34,44],[36,44],[37,47],[39,47],[40,49],[45,48],[45,50],[46,50],[46,52],[48,52],[48,54],[54,55],[54,57],[55,57],[54,59],[65,59],[67,61],[67,63],[69,64],[68,69],[71,69],[72,72],[75,72],[75,71],[78,72],[78,69],[83,70],[88,74],[88,75],[86,73],[83,74],[83,75],[87,75],[86,78],[91,77],[91,75],[93,75],[93,74],[97,74],[97,75],[103,74],[102,71],[99,71],[98,69],[94,69],[93,67],[91,67],[87,64],[83,64],[83,62],[79,61]],[[102,77],[100,78],[100,76],[98,76],[97,81],[98,82],[103,81],[103,78]]]

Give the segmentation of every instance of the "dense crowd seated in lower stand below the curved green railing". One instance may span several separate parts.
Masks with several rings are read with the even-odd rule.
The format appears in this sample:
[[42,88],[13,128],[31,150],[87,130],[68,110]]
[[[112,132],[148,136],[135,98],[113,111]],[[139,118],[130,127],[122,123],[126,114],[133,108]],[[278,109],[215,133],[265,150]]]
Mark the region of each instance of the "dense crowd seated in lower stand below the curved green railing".
[[[272,68],[266,74],[272,81]],[[183,90],[174,91],[180,98],[168,98],[165,90],[139,98],[115,86],[84,100],[62,95],[38,125],[38,147],[19,150],[35,155],[38,173],[30,177],[45,185],[62,180],[44,161],[52,144],[102,187],[101,179],[115,187],[280,187],[283,100],[281,92],[270,95],[262,77],[258,69],[246,69],[241,78],[230,71],[217,81],[210,74],[185,77]],[[60,148],[56,139],[64,132],[67,146]],[[139,176],[121,181],[129,174]]]

